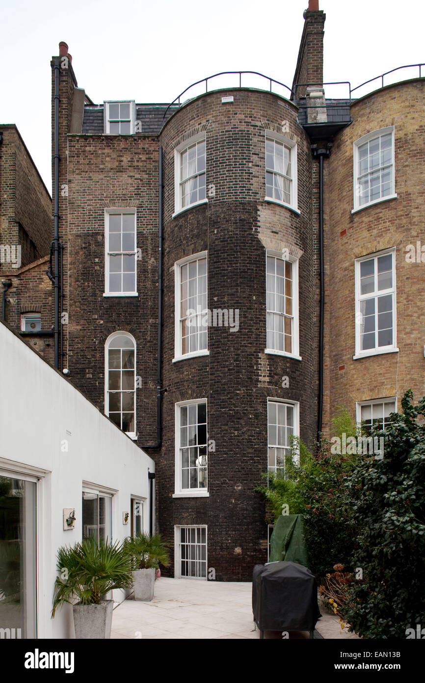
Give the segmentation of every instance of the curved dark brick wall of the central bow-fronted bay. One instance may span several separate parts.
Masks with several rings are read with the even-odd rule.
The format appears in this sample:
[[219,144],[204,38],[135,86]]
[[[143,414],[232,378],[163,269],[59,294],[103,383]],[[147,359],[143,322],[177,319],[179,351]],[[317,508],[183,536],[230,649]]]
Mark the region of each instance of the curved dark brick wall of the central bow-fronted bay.
[[[233,104],[221,97],[232,94]],[[206,524],[208,566],[216,579],[249,580],[267,559],[264,503],[253,489],[267,470],[267,397],[300,403],[300,432],[310,443],[317,426],[317,270],[312,221],[312,159],[296,111],[276,96],[215,92],[188,104],[166,124],[164,145],[164,394],[163,449],[156,460],[158,522],[166,538],[174,525]],[[289,121],[298,143],[298,216],[265,202],[265,129]],[[174,148],[206,131],[208,204],[174,219]],[[302,361],[264,354],[265,246],[293,245],[299,262]],[[278,248],[278,247],[276,247]],[[239,331],[209,329],[209,356],[172,363],[174,263],[208,251],[209,309],[239,308]],[[289,388],[282,388],[282,376]],[[173,499],[175,403],[207,398],[209,498]],[[239,550],[240,549],[240,550]],[[173,575],[173,566],[168,574]]]

